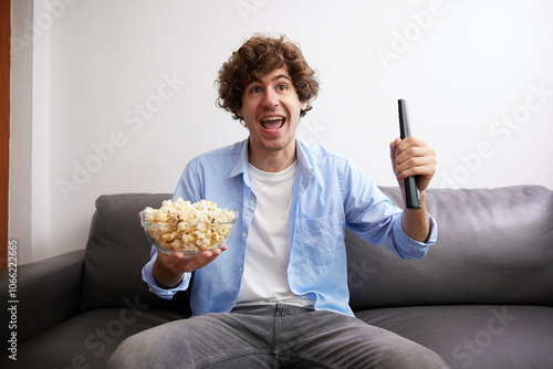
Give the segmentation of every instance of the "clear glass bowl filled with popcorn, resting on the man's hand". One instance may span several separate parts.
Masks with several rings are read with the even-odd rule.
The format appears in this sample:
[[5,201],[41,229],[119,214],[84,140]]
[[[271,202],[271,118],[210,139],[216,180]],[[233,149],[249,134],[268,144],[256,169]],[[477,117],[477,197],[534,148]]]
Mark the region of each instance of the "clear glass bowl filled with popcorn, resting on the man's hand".
[[148,211],[140,211],[140,224],[146,238],[157,250],[166,254],[181,252],[197,255],[204,251],[222,247],[230,239],[238,222],[238,211],[230,210],[233,219],[229,222],[180,221],[178,223],[149,223]]

